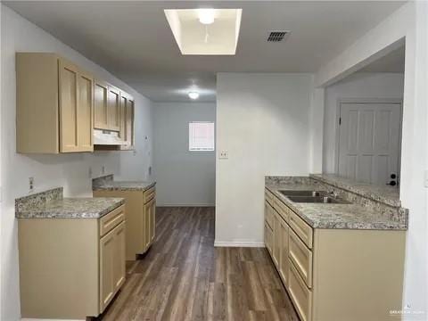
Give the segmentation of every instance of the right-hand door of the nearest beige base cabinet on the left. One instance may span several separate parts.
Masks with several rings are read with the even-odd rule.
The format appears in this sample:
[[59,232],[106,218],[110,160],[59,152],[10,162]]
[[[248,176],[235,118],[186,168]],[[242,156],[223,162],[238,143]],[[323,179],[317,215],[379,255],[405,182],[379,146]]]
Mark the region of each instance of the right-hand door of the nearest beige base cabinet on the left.
[[113,284],[115,292],[125,282],[125,221],[114,229]]

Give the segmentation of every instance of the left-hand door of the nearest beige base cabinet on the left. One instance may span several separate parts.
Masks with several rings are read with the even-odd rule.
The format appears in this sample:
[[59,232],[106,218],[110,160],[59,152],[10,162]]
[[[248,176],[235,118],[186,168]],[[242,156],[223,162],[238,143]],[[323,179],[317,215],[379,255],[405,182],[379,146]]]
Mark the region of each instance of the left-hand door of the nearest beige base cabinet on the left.
[[115,255],[115,230],[100,240],[100,310],[107,307],[114,296],[113,262]]

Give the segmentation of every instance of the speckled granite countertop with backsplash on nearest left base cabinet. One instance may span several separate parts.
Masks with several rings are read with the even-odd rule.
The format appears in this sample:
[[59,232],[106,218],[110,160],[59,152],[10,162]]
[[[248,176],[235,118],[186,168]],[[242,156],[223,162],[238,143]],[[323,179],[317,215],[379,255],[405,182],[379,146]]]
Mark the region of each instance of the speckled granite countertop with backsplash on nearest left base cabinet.
[[124,204],[123,198],[63,198],[62,187],[15,200],[16,218],[101,218]]

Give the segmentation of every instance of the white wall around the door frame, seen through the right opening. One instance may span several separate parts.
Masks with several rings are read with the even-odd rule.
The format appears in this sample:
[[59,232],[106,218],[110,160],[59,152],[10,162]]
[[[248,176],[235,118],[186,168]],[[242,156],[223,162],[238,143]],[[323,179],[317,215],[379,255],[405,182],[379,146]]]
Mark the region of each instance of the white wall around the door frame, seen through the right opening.
[[334,173],[337,161],[338,101],[343,98],[403,99],[404,75],[355,73],[325,89],[323,172]]

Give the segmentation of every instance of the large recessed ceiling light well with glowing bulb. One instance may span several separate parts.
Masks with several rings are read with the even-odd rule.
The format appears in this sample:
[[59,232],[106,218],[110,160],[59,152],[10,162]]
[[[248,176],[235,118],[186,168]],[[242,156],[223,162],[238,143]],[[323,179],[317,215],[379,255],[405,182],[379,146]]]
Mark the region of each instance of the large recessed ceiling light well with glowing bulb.
[[235,54],[242,9],[167,9],[182,54]]

